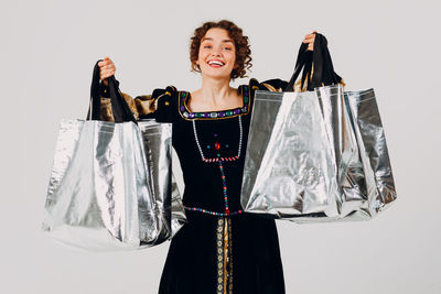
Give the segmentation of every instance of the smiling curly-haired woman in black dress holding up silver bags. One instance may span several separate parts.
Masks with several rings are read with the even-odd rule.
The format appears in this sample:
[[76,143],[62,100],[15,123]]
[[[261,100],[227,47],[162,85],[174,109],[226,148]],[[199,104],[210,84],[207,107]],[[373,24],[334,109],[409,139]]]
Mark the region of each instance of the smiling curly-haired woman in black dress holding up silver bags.
[[[314,33],[303,43],[312,51]],[[173,123],[172,143],[183,170],[189,222],[172,239],[159,293],[284,293],[273,220],[240,207],[245,150],[256,89],[282,90],[286,81],[229,81],[251,66],[248,37],[229,21],[207,22],[192,37],[190,59],[202,87],[193,92],[169,86],[128,100],[137,118]],[[115,74],[106,57],[100,78]],[[101,111],[111,120],[109,104]]]

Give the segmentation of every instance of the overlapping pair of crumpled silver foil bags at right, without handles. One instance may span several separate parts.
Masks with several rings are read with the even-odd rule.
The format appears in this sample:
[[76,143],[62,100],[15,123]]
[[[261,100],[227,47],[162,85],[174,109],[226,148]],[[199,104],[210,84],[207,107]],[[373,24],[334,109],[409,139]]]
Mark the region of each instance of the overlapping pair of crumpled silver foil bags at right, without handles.
[[396,199],[374,90],[256,91],[241,187],[248,213],[369,219]]

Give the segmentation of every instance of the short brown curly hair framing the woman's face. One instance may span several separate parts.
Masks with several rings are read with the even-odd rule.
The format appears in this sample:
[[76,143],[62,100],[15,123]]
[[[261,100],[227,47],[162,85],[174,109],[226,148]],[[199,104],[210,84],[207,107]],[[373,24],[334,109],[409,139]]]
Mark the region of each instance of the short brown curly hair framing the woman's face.
[[233,69],[230,79],[238,77],[246,77],[247,69],[251,65],[251,50],[249,48],[248,36],[243,34],[243,31],[234,22],[222,20],[218,22],[205,22],[200,28],[194,30],[194,35],[190,44],[190,61],[192,62],[192,70],[201,73],[200,66],[196,64],[201,41],[209,29],[219,28],[228,32],[236,46],[236,64],[237,67]]

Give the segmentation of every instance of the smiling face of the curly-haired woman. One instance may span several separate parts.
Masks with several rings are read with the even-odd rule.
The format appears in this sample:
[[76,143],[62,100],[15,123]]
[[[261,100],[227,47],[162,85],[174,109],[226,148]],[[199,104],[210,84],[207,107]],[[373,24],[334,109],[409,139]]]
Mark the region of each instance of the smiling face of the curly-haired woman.
[[196,64],[202,76],[230,78],[236,67],[236,46],[224,29],[209,29],[201,40]]

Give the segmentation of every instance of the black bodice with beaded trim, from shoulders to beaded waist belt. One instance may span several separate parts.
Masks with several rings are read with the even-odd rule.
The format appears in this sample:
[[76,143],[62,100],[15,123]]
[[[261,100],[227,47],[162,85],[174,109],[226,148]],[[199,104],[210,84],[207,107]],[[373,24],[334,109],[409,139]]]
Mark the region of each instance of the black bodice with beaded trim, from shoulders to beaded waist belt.
[[262,84],[251,79],[237,89],[243,97],[241,107],[207,112],[190,110],[189,91],[172,86],[153,91],[153,117],[159,122],[173,123],[172,143],[183,172],[186,210],[220,216],[241,213],[240,189],[254,91],[280,90],[284,85],[280,79]]

